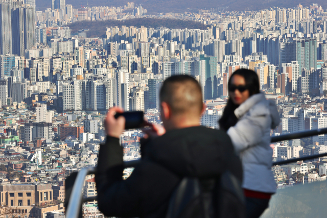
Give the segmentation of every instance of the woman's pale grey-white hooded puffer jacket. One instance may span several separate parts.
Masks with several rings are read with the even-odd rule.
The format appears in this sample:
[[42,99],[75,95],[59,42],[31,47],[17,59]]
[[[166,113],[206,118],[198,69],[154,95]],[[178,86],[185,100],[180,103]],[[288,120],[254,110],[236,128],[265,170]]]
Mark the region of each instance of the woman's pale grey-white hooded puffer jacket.
[[270,131],[280,120],[276,105],[266,100],[264,93],[259,93],[252,95],[234,113],[239,121],[227,134],[243,163],[243,188],[274,193],[273,150],[269,145]]

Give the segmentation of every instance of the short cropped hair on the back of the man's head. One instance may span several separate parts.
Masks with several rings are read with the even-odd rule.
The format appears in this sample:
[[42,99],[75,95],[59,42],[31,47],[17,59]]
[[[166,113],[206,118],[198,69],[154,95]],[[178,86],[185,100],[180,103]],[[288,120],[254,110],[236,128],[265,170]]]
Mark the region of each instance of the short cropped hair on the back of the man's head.
[[169,77],[162,84],[160,102],[166,102],[175,115],[201,113],[203,108],[201,86],[188,75]]

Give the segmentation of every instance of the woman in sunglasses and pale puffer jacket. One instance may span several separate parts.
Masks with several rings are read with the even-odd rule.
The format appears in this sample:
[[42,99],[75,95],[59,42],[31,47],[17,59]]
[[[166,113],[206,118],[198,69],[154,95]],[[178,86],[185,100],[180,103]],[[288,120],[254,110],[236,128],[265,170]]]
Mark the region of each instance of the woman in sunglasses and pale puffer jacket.
[[258,75],[239,69],[228,81],[229,100],[219,120],[240,155],[247,218],[259,217],[268,207],[276,184],[271,171],[271,129],[279,124],[276,105],[260,92]]

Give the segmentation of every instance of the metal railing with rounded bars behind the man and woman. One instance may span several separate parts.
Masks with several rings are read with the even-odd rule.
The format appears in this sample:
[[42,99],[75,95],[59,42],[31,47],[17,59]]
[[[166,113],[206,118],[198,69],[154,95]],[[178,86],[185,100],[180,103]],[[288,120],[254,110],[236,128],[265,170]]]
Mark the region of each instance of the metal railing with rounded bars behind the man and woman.
[[[279,135],[279,136],[273,136],[273,137],[271,137],[271,142],[278,142],[278,141],[291,140],[291,139],[297,139],[297,138],[305,138],[305,137],[310,137],[310,136],[320,135],[320,134],[327,134],[327,128],[317,129],[317,130],[309,130],[309,131],[298,132],[298,133],[290,133],[290,134]],[[281,165],[281,164],[292,163],[292,162],[297,162],[297,161],[301,161],[301,160],[309,160],[309,159],[324,157],[324,156],[327,156],[327,153],[311,155],[311,156],[307,156],[307,157],[293,158],[293,159],[289,159],[289,160],[276,161],[276,162],[273,162],[272,165]],[[126,161],[126,162],[124,162],[124,165],[125,165],[125,168],[128,168],[128,167],[135,166],[139,162],[140,162],[140,160]],[[66,210],[66,217],[77,218],[79,215],[79,210],[82,206],[82,203],[87,202],[87,201],[97,200],[97,196],[83,198],[82,190],[83,190],[84,183],[85,183],[85,177],[89,174],[96,174],[96,167],[82,168],[78,172],[77,178],[75,180],[75,183],[74,183],[74,186],[72,189],[71,197],[69,199],[69,200],[74,199],[74,201],[69,201],[69,204],[68,204],[68,207]]]

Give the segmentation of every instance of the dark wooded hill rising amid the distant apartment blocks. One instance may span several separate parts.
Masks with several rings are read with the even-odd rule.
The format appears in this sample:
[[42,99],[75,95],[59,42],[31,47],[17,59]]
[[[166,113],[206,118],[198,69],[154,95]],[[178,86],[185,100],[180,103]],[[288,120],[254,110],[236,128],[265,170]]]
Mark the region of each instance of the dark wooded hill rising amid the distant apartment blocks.
[[185,21],[179,19],[152,19],[152,18],[138,18],[129,19],[126,21],[120,20],[106,20],[106,21],[80,21],[69,24],[67,27],[71,28],[71,32],[76,33],[81,29],[89,29],[87,37],[104,37],[104,32],[107,27],[114,26],[134,26],[134,27],[167,27],[170,29],[201,29],[204,30],[207,26],[195,21]]

